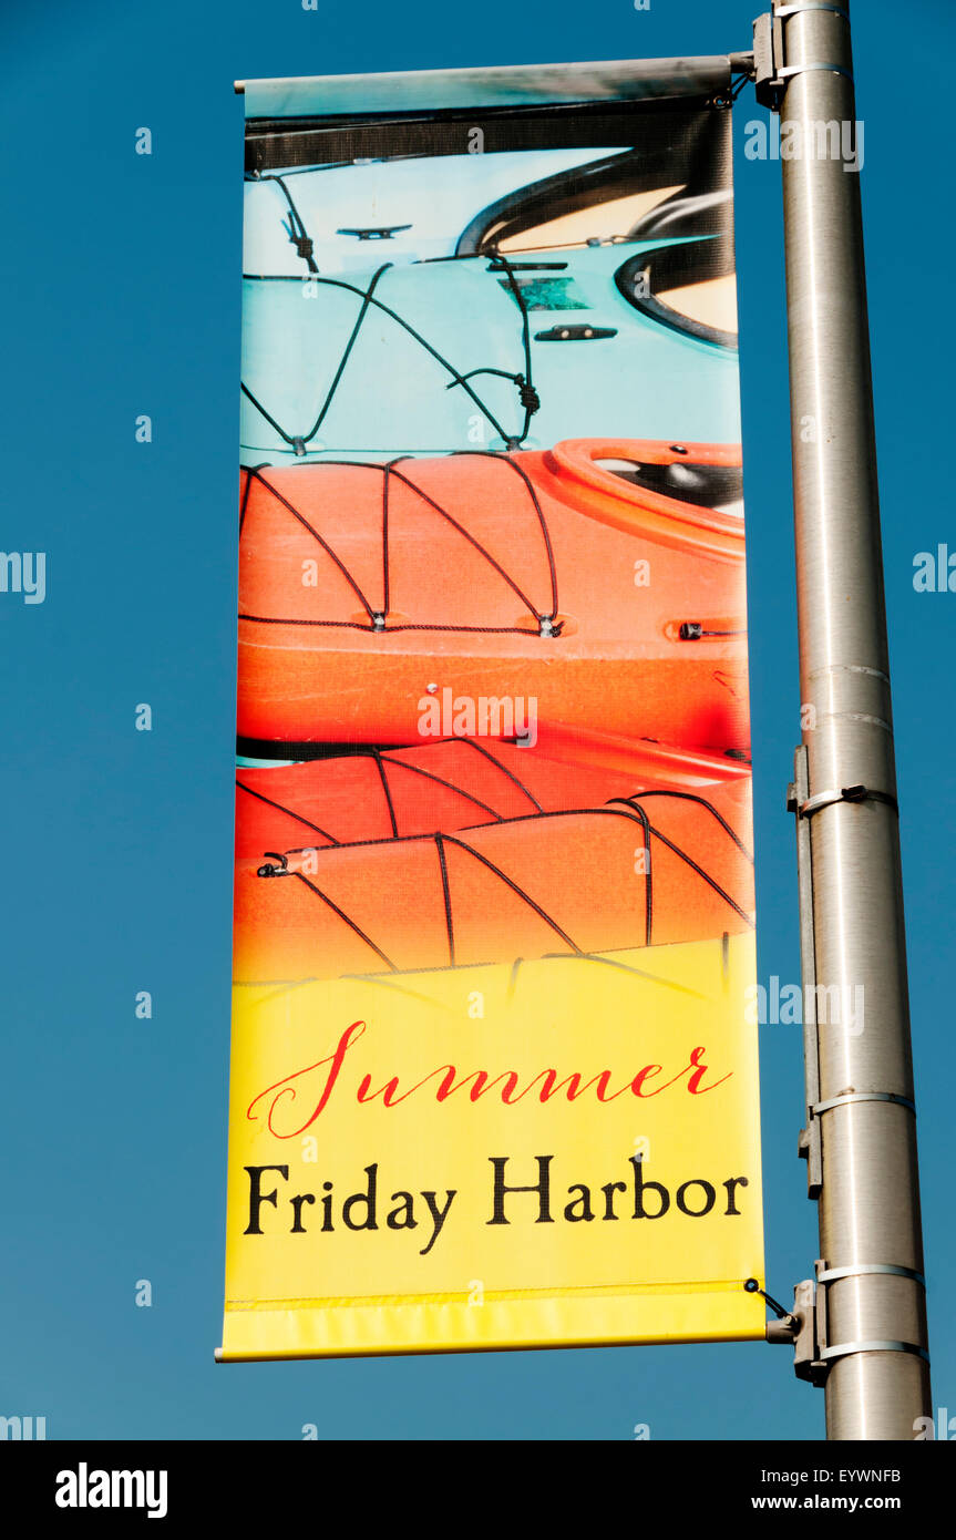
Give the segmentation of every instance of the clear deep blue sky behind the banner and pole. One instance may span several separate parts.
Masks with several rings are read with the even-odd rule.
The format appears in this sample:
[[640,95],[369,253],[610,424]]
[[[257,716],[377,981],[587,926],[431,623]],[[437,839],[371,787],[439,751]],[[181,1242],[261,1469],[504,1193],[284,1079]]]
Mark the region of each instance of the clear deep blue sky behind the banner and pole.
[[[305,12],[300,0],[11,0],[2,29],[5,1096],[0,1414],[129,1438],[817,1438],[822,1395],[764,1344],[216,1366],[229,1046],[242,102],[236,77],[708,54],[727,0]],[[953,14],[856,8],[864,216],[930,1280],[934,1403],[956,1406],[948,1283],[956,594],[950,542]],[[922,52],[921,52],[922,49]],[[779,166],[736,109],[759,976],[799,978],[799,738]],[[134,129],[154,134],[151,159]],[[135,445],[139,413],[154,444]],[[134,732],[149,702],[154,732]],[[134,1015],[137,990],[154,1015]],[[816,1255],[796,1160],[797,1027],[762,1029],[768,1287]],[[137,1280],[154,1304],[137,1309]]]

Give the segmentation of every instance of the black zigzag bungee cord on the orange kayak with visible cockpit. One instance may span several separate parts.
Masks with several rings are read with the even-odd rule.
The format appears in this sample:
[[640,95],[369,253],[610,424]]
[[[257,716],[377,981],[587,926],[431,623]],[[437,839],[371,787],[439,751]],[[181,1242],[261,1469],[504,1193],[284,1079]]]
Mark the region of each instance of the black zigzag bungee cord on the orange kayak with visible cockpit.
[[528,594],[523,591],[523,588],[520,587],[520,584],[517,584],[516,579],[511,578],[511,574],[491,554],[491,551],[488,551],[482,545],[482,542],[479,539],[476,539],[476,536],[471,534],[471,531],[466,530],[465,525],[460,524],[460,521],[456,519],[454,514],[451,514],[448,511],[448,508],[443,508],[442,504],[439,504],[434,497],[431,497],[430,493],[426,493],[422,487],[419,487],[419,484],[414,482],[405,471],[402,471],[402,470],[397,468],[399,464],[409,464],[409,465],[416,464],[414,459],[408,460],[405,456],[402,456],[400,460],[388,460],[383,465],[376,465],[376,464],[369,464],[369,462],[365,462],[365,460],[323,460],[322,462],[323,465],[329,465],[329,467],[334,465],[337,468],[343,468],[345,467],[345,468],[349,468],[349,470],[354,468],[354,470],[366,470],[366,471],[380,471],[382,473],[382,588],[383,588],[383,604],[382,604],[380,610],[377,610],[377,608],[373,607],[373,604],[369,602],[369,599],[362,591],[357,579],[349,571],[349,568],[345,565],[345,562],[339,557],[339,554],[333,550],[333,547],[329,545],[329,542],[319,533],[319,530],[316,530],[316,527],[313,524],[309,524],[309,521],[305,517],[305,514],[302,514],[288,500],[288,497],[283,497],[283,494],[279,491],[279,488],[274,487],[272,482],[269,482],[266,479],[266,476],[263,476],[263,468],[262,467],[249,467],[246,470],[246,485],[243,488],[243,499],[242,499],[242,510],[240,510],[240,533],[242,533],[242,528],[243,528],[243,524],[245,524],[245,511],[246,511],[248,497],[249,497],[249,487],[252,484],[252,479],[256,479],[257,482],[262,484],[262,487],[268,493],[272,494],[272,497],[276,497],[277,502],[282,504],[283,508],[288,508],[288,511],[299,521],[299,524],[305,530],[308,530],[308,533],[319,542],[319,545],[322,547],[322,550],[334,562],[334,565],[342,573],[342,576],[348,582],[349,588],[353,590],[353,593],[359,599],[359,604],[365,610],[369,624],[363,625],[360,621],[283,619],[282,616],[263,616],[263,614],[245,614],[245,613],[240,613],[239,619],[240,621],[252,621],[252,622],[260,624],[260,625],[326,625],[326,627],[348,628],[348,630],[357,630],[357,631],[376,631],[376,633],[385,633],[385,631],[388,631],[388,633],[394,633],[394,631],[486,631],[486,633],[506,633],[506,634],[514,633],[514,634],[523,634],[523,628],[520,625],[451,625],[451,624],[443,624],[442,625],[442,624],[428,624],[428,622],[423,622],[423,621],[422,622],[406,621],[406,622],[400,622],[400,624],[394,624],[393,622],[391,625],[388,624],[388,614],[389,614],[389,561],[388,561],[388,550],[389,550],[388,548],[388,513],[389,513],[389,505],[388,505],[388,491],[389,491],[389,480],[394,477],[397,482],[400,482],[403,487],[406,487],[411,493],[414,493],[416,496],[419,496],[422,499],[422,502],[425,502],[430,508],[433,508],[442,519],[445,519],[445,522],[450,524],[451,528],[456,530],[457,534],[463,536],[463,539],[479,553],[479,556],[482,556],[483,561],[488,562],[488,565],[499,574],[499,578],[502,578],[502,581],[511,588],[511,591],[516,594],[516,598],[520,599],[520,602],[525,605],[525,608],[528,610],[528,613],[531,614],[531,618],[537,624],[539,636],[543,636],[543,638],[557,638],[557,636],[560,636],[563,624],[557,619],[557,614],[559,614],[559,604],[557,604],[557,564],[554,561],[554,548],[553,548],[553,544],[551,544],[551,534],[548,531],[548,522],[545,519],[545,513],[543,513],[543,508],[540,505],[540,499],[537,496],[537,491],[536,491],[536,487],[534,487],[531,477],[506,453],[496,453],[493,450],[453,450],[451,456],[448,456],[448,457],[451,459],[454,456],[468,456],[468,457],[490,459],[490,460],[494,460],[499,465],[508,465],[508,468],[511,471],[514,471],[514,474],[525,485],[525,488],[528,491],[528,496],[531,497],[531,504],[533,504],[533,508],[534,508],[534,513],[536,513],[536,517],[537,517],[537,522],[539,522],[539,527],[540,527],[542,541],[543,541],[543,545],[545,545],[545,556],[547,556],[547,561],[548,561],[548,574],[550,574],[550,585],[551,585],[551,610],[550,610],[550,613],[542,614],[542,611],[539,610],[539,607],[528,598]]

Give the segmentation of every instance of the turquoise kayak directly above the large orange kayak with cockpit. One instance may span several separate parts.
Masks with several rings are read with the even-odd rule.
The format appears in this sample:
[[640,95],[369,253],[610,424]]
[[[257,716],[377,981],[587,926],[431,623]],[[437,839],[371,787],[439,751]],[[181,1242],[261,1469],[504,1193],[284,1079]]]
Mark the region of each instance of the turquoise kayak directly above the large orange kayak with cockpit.
[[[707,253],[713,239],[667,248]],[[246,279],[243,464],[533,450],[565,437],[739,442],[736,350],[673,313],[665,323],[640,299],[640,259],[662,246]],[[682,280],[690,260],[685,270]]]

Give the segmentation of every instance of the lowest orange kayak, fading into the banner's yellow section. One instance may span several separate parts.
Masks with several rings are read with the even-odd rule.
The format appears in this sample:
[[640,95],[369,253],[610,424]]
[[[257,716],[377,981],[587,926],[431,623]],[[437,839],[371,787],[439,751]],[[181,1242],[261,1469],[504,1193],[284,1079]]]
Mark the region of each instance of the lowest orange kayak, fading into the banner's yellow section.
[[325,845],[299,830],[294,847],[240,856],[237,981],[591,955],[751,926],[748,779],[451,825]]

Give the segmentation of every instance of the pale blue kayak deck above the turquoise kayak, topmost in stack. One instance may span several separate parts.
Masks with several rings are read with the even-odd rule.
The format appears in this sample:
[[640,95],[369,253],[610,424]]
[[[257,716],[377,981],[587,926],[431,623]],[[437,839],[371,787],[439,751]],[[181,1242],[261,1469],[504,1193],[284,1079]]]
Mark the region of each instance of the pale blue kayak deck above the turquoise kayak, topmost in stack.
[[453,256],[485,211],[533,202],[540,183],[548,183],[551,217],[591,197],[590,234],[623,236],[625,211],[605,205],[614,168],[631,160],[633,152],[585,146],[252,172],[245,183],[243,271],[262,277],[354,271],[368,266],[373,243],[383,262]]

